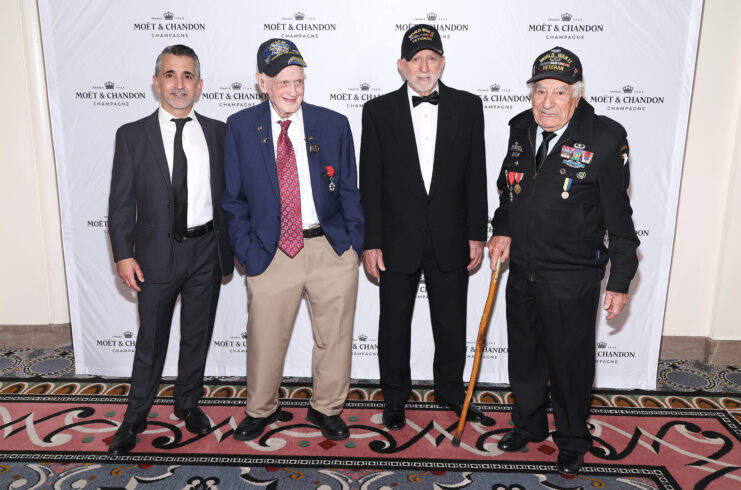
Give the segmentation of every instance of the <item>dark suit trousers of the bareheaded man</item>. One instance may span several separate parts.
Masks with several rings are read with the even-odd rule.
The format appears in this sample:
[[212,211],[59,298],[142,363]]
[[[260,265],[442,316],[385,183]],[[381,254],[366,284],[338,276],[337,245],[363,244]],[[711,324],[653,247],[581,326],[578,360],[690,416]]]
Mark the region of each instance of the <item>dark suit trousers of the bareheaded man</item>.
[[180,295],[180,352],[175,404],[196,406],[203,393],[203,371],[221,288],[216,235],[172,242],[175,271],[170,282],[139,283],[139,333],[131,372],[129,405],[124,420],[146,419],[162,378],[175,301]]

